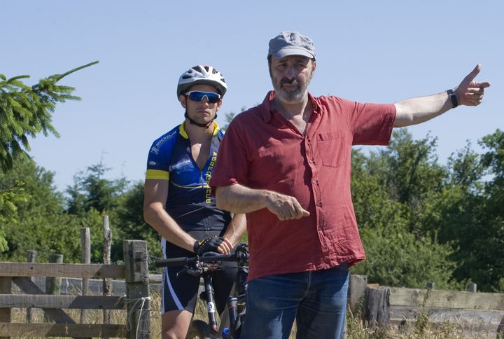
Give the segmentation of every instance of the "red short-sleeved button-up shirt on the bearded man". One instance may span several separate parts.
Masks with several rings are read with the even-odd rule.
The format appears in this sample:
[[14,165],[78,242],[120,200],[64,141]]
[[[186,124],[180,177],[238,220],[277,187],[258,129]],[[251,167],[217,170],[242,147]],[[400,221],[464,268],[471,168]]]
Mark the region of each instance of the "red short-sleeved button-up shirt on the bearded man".
[[280,221],[268,209],[246,214],[248,279],[363,260],[350,195],[351,145],[388,145],[395,106],[309,95],[314,111],[303,135],[270,109],[272,99],[269,92],[232,120],[210,185],[291,195],[310,215]]

